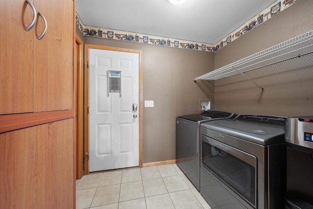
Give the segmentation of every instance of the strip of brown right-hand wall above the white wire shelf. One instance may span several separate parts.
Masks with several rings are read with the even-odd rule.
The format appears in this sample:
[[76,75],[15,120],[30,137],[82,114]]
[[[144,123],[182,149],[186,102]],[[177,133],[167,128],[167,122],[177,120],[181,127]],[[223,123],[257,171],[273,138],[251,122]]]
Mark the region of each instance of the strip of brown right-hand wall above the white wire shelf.
[[215,53],[215,69],[313,29],[313,0],[299,0]]

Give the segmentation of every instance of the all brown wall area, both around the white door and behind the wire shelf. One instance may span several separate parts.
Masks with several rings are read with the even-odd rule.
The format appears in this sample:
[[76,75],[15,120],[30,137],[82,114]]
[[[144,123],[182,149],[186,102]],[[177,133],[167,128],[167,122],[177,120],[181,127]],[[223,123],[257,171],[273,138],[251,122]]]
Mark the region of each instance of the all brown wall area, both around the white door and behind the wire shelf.
[[[287,62],[247,72],[265,93],[242,75],[193,82],[214,67],[312,30],[312,11],[312,0],[300,0],[215,54],[88,36],[82,40],[86,44],[143,50],[143,100],[155,101],[154,108],[143,108],[143,163],[166,161],[175,159],[176,116],[199,113],[201,98],[213,99],[212,110],[237,114],[313,115],[313,64],[290,68],[294,62]],[[77,33],[81,37],[78,29]],[[307,60],[312,62],[313,56]]]

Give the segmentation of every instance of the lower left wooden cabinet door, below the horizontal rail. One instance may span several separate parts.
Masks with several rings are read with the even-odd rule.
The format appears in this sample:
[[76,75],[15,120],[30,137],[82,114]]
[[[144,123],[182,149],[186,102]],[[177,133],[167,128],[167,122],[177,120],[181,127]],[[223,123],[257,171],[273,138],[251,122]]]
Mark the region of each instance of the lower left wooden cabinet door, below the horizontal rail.
[[33,209],[34,128],[0,134],[0,209]]

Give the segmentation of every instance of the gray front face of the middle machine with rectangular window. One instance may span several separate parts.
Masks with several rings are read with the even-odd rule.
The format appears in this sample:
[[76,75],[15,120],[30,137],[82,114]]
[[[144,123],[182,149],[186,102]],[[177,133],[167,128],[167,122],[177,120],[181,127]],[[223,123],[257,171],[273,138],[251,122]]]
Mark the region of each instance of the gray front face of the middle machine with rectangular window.
[[[214,131],[201,128],[201,133],[200,192],[203,198],[212,209],[257,208],[257,157],[213,139],[217,136]],[[223,134],[218,137],[226,138],[224,142],[234,140]],[[261,154],[258,157],[263,159],[262,146],[251,144],[248,148],[240,142],[239,148],[256,149],[256,153]]]

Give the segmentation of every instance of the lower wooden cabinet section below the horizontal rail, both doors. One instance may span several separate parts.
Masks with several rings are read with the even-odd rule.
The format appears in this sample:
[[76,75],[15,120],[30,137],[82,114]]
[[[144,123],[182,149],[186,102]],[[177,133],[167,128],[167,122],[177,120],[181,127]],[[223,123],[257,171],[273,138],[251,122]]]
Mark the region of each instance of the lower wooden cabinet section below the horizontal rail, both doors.
[[0,208],[74,208],[74,119],[0,134]]

